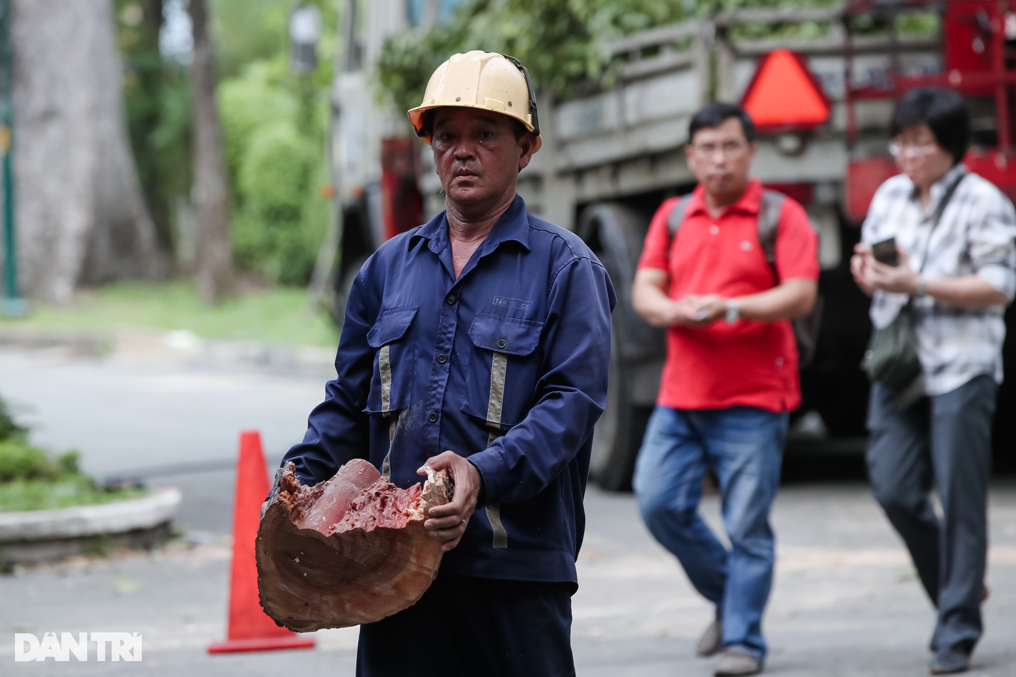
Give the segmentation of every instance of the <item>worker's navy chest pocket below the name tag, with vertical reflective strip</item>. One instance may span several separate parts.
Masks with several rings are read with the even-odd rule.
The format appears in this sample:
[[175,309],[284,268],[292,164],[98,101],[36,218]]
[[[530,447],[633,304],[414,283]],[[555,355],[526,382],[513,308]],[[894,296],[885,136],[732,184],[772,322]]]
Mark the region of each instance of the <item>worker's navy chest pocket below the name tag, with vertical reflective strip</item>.
[[472,350],[462,411],[494,433],[519,423],[536,390],[544,323],[479,313],[469,326]]

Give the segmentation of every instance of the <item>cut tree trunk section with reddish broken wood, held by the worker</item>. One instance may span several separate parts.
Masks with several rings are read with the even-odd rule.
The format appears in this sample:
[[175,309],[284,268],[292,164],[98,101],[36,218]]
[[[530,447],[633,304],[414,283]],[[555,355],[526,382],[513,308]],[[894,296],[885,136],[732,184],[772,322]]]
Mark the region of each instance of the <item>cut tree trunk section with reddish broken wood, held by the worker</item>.
[[313,487],[293,463],[279,472],[256,545],[261,606],[276,623],[298,632],[373,623],[430,588],[442,543],[424,521],[451,499],[447,471],[428,468],[424,486],[408,489],[359,459]]

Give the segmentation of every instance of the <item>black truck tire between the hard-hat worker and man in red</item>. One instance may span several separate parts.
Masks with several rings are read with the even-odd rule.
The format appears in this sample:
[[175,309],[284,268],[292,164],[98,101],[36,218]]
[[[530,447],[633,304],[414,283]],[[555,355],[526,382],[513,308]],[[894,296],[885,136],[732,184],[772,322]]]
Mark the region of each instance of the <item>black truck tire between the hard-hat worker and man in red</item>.
[[[618,302],[611,319],[611,366],[607,407],[592,436],[589,473],[602,488],[631,488],[635,459],[655,400],[651,373],[665,355],[663,332],[649,327],[631,306],[631,284],[642,253],[648,218],[617,203],[587,207],[577,233],[607,269]],[[646,379],[648,368],[650,378]]]

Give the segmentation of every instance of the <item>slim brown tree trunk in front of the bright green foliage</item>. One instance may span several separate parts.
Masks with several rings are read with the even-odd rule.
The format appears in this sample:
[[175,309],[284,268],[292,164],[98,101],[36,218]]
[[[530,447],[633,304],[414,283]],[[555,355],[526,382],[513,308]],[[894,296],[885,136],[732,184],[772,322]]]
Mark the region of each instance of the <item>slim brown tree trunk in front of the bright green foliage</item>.
[[190,0],[190,15],[194,30],[192,197],[197,219],[197,288],[204,302],[213,303],[233,289],[233,246],[223,132],[215,105],[215,60],[205,0]]

